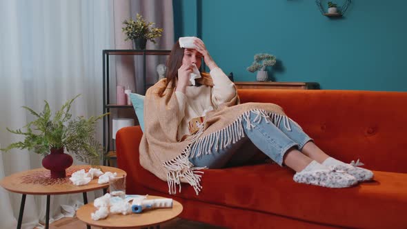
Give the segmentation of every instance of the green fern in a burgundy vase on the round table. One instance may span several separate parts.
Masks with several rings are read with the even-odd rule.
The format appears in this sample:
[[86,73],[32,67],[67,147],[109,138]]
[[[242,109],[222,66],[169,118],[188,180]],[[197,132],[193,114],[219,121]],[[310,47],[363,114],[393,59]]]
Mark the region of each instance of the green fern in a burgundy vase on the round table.
[[37,119],[24,126],[27,129],[26,132],[21,129],[7,128],[9,132],[23,135],[25,139],[11,143],[7,148],[0,150],[7,152],[13,148],[27,149],[45,156],[42,165],[50,170],[51,178],[66,177],[66,168],[73,163],[72,157],[64,153],[64,150],[74,154],[80,161],[92,165],[98,164],[103,154],[103,147],[95,139],[95,124],[108,113],[99,117],[92,116],[89,119],[80,116],[71,120],[70,107],[79,95],[63,104],[62,108],[55,112],[53,119],[51,119],[52,114],[47,101],[40,113],[23,106]]

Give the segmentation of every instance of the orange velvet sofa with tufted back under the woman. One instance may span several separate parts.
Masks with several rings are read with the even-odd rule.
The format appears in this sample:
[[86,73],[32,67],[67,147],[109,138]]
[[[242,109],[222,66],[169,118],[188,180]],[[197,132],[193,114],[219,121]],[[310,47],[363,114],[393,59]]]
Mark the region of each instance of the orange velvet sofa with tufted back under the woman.
[[[205,170],[199,195],[168,186],[139,164],[139,126],[117,133],[129,194],[170,197],[181,218],[226,228],[407,228],[407,92],[239,90],[242,103],[277,103],[329,155],[360,159],[372,182],[330,189],[295,183],[273,163]],[[145,114],[148,115],[148,114]]]

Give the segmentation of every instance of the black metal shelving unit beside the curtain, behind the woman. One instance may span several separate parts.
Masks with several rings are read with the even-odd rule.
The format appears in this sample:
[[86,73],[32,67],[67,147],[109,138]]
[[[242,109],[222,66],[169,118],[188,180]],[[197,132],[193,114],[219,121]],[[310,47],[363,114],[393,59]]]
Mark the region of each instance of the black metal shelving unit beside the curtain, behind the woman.
[[[143,56],[143,93],[146,93],[146,57],[169,55],[171,50],[103,50],[103,114],[110,109],[132,108],[132,105],[117,105],[110,103],[109,57],[110,56]],[[107,132],[107,133],[106,133]],[[103,149],[110,158],[115,158],[115,151],[110,148],[110,117],[103,117]],[[103,157],[103,165],[106,158]]]

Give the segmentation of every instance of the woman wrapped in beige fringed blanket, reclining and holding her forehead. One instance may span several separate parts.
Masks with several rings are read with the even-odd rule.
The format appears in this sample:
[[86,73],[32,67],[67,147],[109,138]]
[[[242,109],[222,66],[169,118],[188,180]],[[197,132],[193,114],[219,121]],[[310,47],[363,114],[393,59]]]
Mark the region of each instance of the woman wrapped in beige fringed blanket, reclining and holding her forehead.
[[[234,83],[201,39],[183,39],[190,45],[181,48],[179,41],[175,43],[166,79],[146,94],[148,117],[140,145],[141,165],[168,181],[170,193],[180,182],[188,182],[198,194],[201,168],[244,163],[255,150],[242,148],[250,146],[295,170],[293,179],[298,183],[346,188],[373,179],[370,170],[326,155],[279,106],[239,104]],[[197,75],[202,58],[210,76]]]

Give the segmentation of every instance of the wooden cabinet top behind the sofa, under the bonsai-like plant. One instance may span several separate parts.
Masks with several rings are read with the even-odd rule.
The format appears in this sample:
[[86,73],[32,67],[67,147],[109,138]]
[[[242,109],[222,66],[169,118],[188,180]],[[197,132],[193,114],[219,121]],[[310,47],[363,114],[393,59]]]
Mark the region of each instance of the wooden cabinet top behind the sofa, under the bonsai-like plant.
[[319,83],[315,82],[235,82],[237,89],[319,89]]

